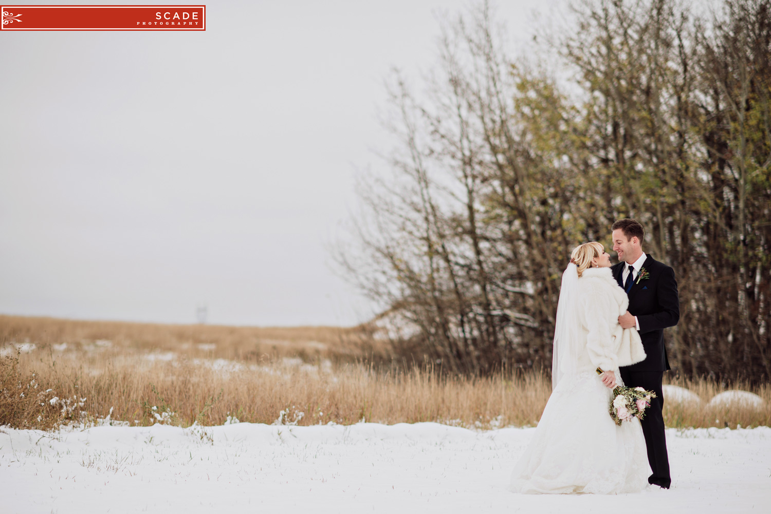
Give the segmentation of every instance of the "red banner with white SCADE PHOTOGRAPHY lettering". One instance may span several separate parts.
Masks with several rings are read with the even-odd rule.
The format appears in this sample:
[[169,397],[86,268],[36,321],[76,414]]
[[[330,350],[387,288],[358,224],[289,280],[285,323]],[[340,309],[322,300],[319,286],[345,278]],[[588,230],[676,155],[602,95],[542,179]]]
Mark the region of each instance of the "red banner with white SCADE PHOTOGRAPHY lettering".
[[206,5],[2,5],[0,30],[206,30]]

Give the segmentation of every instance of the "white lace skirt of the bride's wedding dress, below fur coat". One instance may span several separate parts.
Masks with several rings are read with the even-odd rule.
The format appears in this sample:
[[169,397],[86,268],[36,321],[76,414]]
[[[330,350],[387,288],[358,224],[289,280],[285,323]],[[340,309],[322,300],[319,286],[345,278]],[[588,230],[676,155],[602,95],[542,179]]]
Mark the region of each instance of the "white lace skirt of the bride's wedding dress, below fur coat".
[[608,414],[611,394],[594,371],[564,377],[514,467],[513,492],[617,494],[644,489],[650,467],[640,422],[635,418],[617,426]]

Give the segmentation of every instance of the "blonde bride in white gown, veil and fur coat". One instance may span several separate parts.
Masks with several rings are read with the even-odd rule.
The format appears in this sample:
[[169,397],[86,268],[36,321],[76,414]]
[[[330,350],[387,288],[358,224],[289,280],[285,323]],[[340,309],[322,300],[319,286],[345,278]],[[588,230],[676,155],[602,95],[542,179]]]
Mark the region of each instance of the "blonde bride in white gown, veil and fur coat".
[[[648,485],[645,438],[637,418],[616,426],[608,406],[621,384],[619,366],[645,359],[640,336],[622,329],[624,290],[611,275],[610,255],[581,244],[562,275],[554,331],[552,392],[530,446],[511,476],[522,493],[614,494]],[[604,370],[598,375],[596,368]]]

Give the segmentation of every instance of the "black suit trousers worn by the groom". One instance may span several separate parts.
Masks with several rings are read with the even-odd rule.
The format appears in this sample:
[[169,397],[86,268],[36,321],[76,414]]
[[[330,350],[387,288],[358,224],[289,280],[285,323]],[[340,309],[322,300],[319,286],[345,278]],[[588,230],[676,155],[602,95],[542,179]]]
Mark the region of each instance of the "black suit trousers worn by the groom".
[[645,446],[648,448],[648,463],[653,474],[648,477],[648,483],[660,485],[669,489],[672,479],[669,476],[669,458],[667,456],[667,439],[664,432],[664,393],[662,391],[663,371],[628,371],[621,368],[621,380],[631,388],[645,388],[656,393],[651,399],[651,406],[645,409],[642,434],[645,436]]

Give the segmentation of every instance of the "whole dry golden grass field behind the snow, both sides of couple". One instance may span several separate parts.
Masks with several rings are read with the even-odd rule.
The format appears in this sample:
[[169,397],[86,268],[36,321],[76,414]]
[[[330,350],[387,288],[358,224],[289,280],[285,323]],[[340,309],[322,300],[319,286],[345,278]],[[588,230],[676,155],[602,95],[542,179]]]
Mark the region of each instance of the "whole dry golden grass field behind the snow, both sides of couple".
[[[350,362],[362,352],[345,338],[340,348],[335,346],[341,331],[0,317],[0,351],[15,355],[19,344],[25,344],[15,368],[19,383],[34,371],[59,398],[86,398],[82,410],[89,422],[112,409],[113,420],[131,425],[151,425],[158,417],[175,425],[219,425],[233,415],[241,422],[281,418],[297,425],[348,424],[363,418],[489,428],[535,425],[550,395],[550,379],[537,372],[461,378],[431,368],[399,371]],[[287,342],[271,345],[266,340]],[[311,343],[327,346],[314,348]],[[290,357],[298,354],[302,358]],[[0,371],[7,375],[12,359],[0,361],[6,363]],[[705,380],[675,385],[695,392],[704,403],[665,401],[668,426],[771,425],[769,385],[750,388]],[[760,395],[765,406],[706,406],[714,395],[733,388]],[[35,425],[31,411],[8,412],[15,417],[0,424]],[[164,418],[163,412],[170,414]]]

